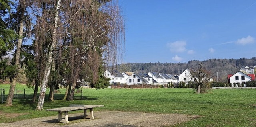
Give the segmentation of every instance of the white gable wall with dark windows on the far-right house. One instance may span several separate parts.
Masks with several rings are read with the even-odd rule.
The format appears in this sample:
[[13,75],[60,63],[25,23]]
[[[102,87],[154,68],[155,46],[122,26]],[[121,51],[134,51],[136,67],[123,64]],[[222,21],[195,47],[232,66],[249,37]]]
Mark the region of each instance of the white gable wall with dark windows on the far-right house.
[[251,80],[251,77],[247,74],[244,74],[243,72],[238,71],[236,74],[232,75],[230,78],[230,83],[233,85],[233,83],[240,83],[242,82],[248,82]]

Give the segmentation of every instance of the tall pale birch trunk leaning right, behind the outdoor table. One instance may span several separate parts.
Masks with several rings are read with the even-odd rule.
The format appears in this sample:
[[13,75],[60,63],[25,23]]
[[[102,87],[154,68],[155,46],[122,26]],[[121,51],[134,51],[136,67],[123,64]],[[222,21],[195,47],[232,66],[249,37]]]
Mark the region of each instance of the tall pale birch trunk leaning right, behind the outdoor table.
[[55,16],[54,16],[54,28],[53,28],[53,32],[52,32],[52,46],[51,45],[48,46],[50,51],[48,53],[48,60],[47,60],[47,63],[46,63],[46,69],[44,71],[44,78],[42,80],[42,86],[41,86],[40,95],[39,95],[39,98],[38,98],[38,104],[37,104],[36,110],[43,110],[46,86],[47,86],[49,75],[50,75],[54,50],[56,49],[56,44],[57,44],[56,34],[57,34],[57,27],[58,27],[58,16],[59,16],[58,11],[59,10],[60,10],[60,0],[57,0]]

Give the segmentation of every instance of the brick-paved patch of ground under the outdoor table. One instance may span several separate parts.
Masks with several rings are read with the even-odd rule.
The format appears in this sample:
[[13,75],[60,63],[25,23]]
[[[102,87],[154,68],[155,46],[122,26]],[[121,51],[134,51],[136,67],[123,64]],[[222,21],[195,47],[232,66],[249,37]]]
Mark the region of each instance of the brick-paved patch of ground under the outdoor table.
[[58,115],[0,123],[1,127],[162,127],[196,119],[196,115],[154,114],[122,111],[95,111],[94,120],[80,119],[83,113],[70,114],[69,124],[56,123]]

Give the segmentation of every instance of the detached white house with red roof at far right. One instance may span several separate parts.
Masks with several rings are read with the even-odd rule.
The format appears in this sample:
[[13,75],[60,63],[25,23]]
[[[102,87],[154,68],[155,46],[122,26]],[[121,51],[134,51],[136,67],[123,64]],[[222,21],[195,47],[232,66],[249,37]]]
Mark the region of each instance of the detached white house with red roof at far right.
[[[246,82],[250,81],[250,80],[255,80],[255,75],[254,74],[245,74],[244,72],[238,71],[236,72],[236,74],[229,74],[228,75],[228,82],[231,83],[231,86],[233,86],[233,84],[237,84],[239,83],[240,85],[246,84]],[[237,85],[236,85],[237,87]]]

